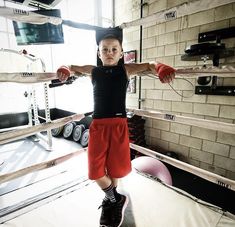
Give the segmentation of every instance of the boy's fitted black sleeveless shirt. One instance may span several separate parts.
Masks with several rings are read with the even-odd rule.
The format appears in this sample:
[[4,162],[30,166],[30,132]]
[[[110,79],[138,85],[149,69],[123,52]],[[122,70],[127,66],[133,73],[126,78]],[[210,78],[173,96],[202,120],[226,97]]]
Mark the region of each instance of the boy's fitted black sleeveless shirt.
[[124,65],[98,66],[92,70],[93,118],[126,117],[128,78]]

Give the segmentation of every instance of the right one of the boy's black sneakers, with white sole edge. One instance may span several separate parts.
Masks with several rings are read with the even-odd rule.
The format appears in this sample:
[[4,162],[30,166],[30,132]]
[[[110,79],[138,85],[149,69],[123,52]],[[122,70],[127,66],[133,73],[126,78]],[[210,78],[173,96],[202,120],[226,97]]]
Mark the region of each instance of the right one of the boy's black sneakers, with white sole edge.
[[109,217],[109,226],[112,227],[120,227],[123,219],[124,212],[127,207],[129,199],[125,195],[121,195],[121,199],[118,202],[112,204],[111,212],[109,213],[111,216]]

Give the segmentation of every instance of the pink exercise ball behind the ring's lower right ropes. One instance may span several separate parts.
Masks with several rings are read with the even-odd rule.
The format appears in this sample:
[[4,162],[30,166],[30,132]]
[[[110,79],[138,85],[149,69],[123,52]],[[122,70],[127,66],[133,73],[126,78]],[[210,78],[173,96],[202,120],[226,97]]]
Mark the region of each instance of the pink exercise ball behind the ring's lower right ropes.
[[157,177],[162,182],[172,185],[172,178],[167,167],[159,160],[141,156],[132,160],[132,167],[136,170]]

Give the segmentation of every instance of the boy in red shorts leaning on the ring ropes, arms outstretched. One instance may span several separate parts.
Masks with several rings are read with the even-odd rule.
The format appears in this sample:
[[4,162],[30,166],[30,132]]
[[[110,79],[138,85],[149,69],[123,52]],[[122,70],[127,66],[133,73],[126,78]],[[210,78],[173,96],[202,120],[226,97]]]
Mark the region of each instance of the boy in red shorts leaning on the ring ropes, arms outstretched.
[[128,204],[128,197],[116,190],[118,179],[131,171],[125,102],[129,77],[149,72],[157,74],[163,83],[169,83],[175,70],[161,63],[122,64],[122,37],[113,28],[96,38],[102,66],[62,66],[57,75],[61,81],[70,76],[70,71],[91,78],[94,113],[89,129],[88,175],[105,193],[100,206],[100,227],[118,227]]

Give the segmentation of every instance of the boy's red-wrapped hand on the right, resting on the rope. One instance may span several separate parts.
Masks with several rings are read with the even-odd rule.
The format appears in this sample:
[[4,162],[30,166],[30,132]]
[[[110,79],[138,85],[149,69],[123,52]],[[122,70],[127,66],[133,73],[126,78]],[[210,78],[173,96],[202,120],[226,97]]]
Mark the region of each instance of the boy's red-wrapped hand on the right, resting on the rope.
[[175,69],[162,63],[155,64],[155,74],[162,83],[170,83],[175,78]]

